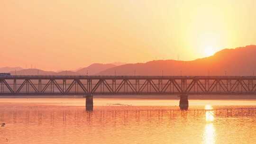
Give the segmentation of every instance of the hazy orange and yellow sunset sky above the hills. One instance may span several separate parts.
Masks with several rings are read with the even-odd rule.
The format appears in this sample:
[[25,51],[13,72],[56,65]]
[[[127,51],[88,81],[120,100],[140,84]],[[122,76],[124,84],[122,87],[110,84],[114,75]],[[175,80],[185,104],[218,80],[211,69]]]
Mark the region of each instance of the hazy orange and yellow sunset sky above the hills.
[[251,44],[256,0],[0,2],[0,67],[193,60]]

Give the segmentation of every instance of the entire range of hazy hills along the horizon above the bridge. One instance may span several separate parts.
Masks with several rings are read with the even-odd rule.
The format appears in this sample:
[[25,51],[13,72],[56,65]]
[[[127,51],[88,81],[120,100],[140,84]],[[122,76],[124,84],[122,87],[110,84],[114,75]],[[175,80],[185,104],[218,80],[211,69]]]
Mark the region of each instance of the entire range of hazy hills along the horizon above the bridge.
[[256,45],[223,49],[210,57],[193,61],[158,60],[118,66],[93,63],[76,72],[4,67],[0,72],[12,75],[86,75],[87,72],[88,75],[256,75]]

